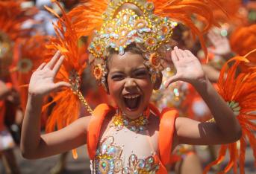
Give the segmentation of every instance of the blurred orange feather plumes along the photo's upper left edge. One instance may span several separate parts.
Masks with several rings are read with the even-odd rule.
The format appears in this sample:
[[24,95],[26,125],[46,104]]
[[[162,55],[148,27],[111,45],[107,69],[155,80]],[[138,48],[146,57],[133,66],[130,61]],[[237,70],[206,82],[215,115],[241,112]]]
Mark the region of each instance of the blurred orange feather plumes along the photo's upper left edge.
[[22,8],[24,1],[0,1],[0,42],[5,42],[4,47],[7,48],[7,53],[1,57],[1,73],[4,71],[4,76],[10,75],[13,87],[17,91],[19,91],[17,81],[19,74],[10,69],[15,68],[19,62],[19,44],[27,39],[33,30],[22,28],[22,25],[25,21],[33,20],[33,16],[37,13],[36,7]]

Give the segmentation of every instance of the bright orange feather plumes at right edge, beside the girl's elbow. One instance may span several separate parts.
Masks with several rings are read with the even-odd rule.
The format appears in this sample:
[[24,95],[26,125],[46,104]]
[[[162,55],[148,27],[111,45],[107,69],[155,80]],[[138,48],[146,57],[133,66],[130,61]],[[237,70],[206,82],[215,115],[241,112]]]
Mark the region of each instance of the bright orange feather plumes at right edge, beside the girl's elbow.
[[[255,51],[249,54],[255,53]],[[228,60],[222,68],[218,82],[219,94],[228,103],[234,114],[237,115],[237,120],[239,120],[242,128],[240,147],[237,145],[237,142],[222,145],[218,158],[207,165],[204,173],[207,173],[213,165],[220,164],[224,160],[227,151],[229,152],[230,160],[225,169],[220,173],[228,173],[232,167],[234,173],[237,173],[237,162],[240,164],[240,173],[245,173],[246,138],[248,138],[253,155],[256,158],[256,139],[253,134],[253,131],[256,130],[256,124],[252,122],[252,120],[256,120],[256,115],[253,113],[256,108],[256,67],[249,68],[249,71],[246,71],[246,73],[242,72],[236,75],[237,67],[240,63],[249,62],[246,59],[249,54],[245,57],[234,57]],[[228,68],[228,63],[233,61],[234,64],[231,68]]]

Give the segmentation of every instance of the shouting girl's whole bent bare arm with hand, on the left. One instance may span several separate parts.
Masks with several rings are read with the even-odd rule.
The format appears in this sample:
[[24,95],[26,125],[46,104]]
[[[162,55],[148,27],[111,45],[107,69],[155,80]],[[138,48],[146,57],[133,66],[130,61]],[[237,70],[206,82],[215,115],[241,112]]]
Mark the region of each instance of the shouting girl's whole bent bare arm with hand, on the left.
[[65,82],[54,83],[54,77],[62,62],[63,57],[57,53],[49,63],[43,63],[32,74],[28,88],[28,103],[22,124],[21,149],[25,158],[43,158],[86,144],[87,123],[90,117],[78,119],[57,132],[40,135],[43,97],[57,88],[70,86]]

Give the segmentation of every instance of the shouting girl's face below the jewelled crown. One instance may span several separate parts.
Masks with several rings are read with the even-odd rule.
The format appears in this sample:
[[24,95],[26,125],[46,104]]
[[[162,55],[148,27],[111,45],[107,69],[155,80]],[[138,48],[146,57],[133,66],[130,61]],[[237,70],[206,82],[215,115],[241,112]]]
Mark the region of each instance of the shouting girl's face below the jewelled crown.
[[149,71],[143,62],[140,54],[125,52],[122,56],[113,54],[108,65],[109,93],[119,109],[131,119],[143,113],[153,91]]

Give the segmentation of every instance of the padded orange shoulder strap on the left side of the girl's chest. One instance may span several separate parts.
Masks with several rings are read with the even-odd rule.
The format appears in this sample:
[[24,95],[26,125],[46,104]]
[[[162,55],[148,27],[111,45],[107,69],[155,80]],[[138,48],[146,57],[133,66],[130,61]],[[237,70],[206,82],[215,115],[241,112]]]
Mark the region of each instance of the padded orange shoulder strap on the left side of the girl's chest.
[[90,159],[95,158],[103,120],[107,113],[112,109],[113,108],[107,104],[100,104],[93,111],[93,115],[87,129],[87,151]]

